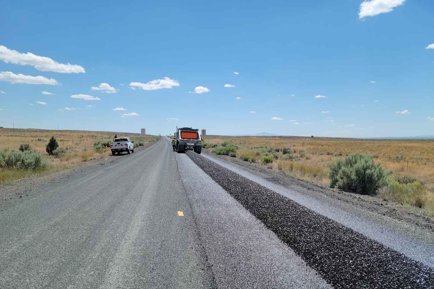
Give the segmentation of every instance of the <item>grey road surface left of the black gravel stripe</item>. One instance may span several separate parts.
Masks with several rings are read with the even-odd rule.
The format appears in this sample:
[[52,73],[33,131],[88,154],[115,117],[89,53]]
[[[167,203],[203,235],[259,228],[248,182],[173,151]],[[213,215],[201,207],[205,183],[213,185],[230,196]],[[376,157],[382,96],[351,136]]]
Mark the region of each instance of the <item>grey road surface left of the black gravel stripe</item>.
[[113,158],[0,212],[1,289],[330,288],[167,139]]

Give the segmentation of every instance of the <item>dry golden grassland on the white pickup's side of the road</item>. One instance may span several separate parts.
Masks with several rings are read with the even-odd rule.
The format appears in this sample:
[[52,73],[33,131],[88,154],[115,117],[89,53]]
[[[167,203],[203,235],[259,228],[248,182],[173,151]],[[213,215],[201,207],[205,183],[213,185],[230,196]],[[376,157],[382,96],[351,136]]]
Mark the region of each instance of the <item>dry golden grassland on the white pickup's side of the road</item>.
[[[118,137],[129,137],[132,140],[142,140],[141,135],[117,133]],[[59,147],[67,149],[62,156],[49,156],[45,146],[51,136],[54,136]],[[110,156],[110,149],[94,149],[94,143],[99,140],[112,140],[115,133],[87,132],[76,130],[36,130],[36,129],[0,129],[0,150],[16,150],[20,143],[29,143],[32,150],[43,154],[48,162],[47,169],[43,171],[17,171],[1,170],[0,183],[22,179],[34,174],[43,174],[54,169],[64,169],[77,166],[80,162],[100,159]],[[159,136],[144,136],[145,143],[158,140]]]

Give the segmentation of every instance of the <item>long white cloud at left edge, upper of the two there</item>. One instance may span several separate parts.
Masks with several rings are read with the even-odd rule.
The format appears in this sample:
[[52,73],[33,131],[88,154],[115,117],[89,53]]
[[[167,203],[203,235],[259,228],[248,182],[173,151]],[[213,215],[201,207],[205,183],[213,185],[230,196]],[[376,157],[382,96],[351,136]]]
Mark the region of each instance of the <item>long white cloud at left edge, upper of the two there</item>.
[[0,59],[6,63],[32,65],[39,71],[54,71],[59,73],[86,72],[80,65],[59,63],[49,57],[35,55],[30,52],[20,53],[16,50],[8,49],[3,45],[0,45]]

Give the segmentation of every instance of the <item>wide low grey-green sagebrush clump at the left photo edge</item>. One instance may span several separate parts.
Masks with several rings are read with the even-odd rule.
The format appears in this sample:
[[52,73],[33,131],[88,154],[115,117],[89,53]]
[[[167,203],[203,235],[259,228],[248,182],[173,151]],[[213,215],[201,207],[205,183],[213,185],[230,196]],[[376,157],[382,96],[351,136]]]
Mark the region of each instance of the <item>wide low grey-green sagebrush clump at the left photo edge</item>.
[[6,150],[0,152],[1,169],[36,170],[43,169],[46,165],[41,153],[32,151],[8,153]]

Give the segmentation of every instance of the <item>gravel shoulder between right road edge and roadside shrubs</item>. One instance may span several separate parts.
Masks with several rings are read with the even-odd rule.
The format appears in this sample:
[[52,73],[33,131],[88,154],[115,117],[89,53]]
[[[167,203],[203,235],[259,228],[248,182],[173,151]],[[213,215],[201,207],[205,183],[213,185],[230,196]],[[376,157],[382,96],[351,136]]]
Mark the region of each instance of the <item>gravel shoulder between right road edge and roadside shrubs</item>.
[[408,208],[393,202],[381,200],[376,196],[358,195],[345,192],[336,188],[320,185],[286,175],[284,172],[268,169],[258,163],[245,162],[238,158],[221,156],[211,153],[209,149],[203,149],[202,153],[214,159],[218,159],[236,168],[243,169],[268,182],[281,185],[296,192],[300,192],[319,201],[332,203],[345,210],[368,212],[378,218],[393,222],[396,226],[402,227],[412,236],[422,240],[433,242],[434,217],[427,216],[418,208]]

